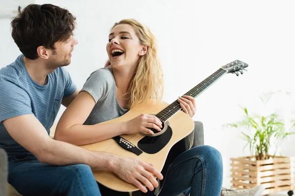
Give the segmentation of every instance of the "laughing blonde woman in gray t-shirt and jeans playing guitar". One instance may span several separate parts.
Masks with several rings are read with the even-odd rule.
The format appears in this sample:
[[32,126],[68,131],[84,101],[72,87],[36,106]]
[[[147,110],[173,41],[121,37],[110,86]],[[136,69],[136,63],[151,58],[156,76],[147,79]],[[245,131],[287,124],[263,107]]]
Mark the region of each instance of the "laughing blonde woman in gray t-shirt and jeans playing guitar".
[[[163,94],[163,73],[155,38],[147,27],[136,20],[116,23],[106,49],[112,66],[91,73],[80,94],[60,118],[56,139],[86,145],[121,134],[154,134],[147,127],[161,130],[160,120],[148,114],[127,122],[97,124],[118,118],[149,98],[161,99]],[[183,112],[193,117],[195,99],[183,96],[178,101]],[[179,173],[183,177],[179,177]],[[220,153],[209,146],[195,147],[179,155],[171,164],[160,195],[177,196],[191,189],[191,196],[204,196],[205,193],[220,196],[222,177]],[[140,176],[136,181],[152,191],[158,184],[147,178]],[[137,182],[133,184],[146,192],[146,188]]]

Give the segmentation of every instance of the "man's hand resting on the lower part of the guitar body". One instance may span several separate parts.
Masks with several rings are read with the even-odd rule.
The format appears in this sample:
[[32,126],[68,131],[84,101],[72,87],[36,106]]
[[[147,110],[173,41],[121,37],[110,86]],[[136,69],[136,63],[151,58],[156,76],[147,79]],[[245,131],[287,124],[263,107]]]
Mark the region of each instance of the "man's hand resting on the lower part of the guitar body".
[[124,181],[139,188],[144,193],[148,192],[145,186],[152,191],[159,185],[152,174],[160,180],[163,179],[163,175],[158,172],[152,164],[148,164],[136,158],[118,157],[115,164],[113,172]]

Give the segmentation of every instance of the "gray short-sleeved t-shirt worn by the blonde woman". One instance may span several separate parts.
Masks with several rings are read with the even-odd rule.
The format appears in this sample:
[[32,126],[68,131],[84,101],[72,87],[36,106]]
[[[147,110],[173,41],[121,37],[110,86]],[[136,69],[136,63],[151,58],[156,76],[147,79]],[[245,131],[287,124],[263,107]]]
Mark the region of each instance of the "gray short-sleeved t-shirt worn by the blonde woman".
[[96,102],[84,124],[92,125],[109,121],[128,111],[118,104],[115,78],[110,67],[91,73],[81,91],[88,92]]

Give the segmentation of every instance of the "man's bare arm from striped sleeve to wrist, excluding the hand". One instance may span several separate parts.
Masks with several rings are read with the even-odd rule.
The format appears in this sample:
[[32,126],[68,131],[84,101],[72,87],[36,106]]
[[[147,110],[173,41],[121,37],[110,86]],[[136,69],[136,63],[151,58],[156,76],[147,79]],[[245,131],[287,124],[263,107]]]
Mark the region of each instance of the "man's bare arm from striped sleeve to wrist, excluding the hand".
[[109,160],[114,156],[93,153],[81,147],[51,139],[34,115],[22,115],[3,121],[10,136],[45,164],[87,164],[93,169],[110,170]]

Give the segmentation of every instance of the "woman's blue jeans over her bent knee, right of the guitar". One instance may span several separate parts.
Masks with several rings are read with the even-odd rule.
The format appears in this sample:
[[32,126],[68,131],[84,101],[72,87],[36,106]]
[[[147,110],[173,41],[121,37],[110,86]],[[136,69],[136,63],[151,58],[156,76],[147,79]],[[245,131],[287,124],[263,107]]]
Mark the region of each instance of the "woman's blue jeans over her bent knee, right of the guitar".
[[159,196],[220,196],[223,178],[222,157],[210,146],[181,153],[170,165]]

